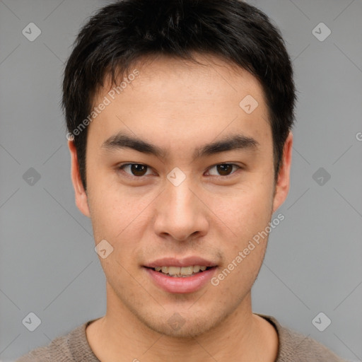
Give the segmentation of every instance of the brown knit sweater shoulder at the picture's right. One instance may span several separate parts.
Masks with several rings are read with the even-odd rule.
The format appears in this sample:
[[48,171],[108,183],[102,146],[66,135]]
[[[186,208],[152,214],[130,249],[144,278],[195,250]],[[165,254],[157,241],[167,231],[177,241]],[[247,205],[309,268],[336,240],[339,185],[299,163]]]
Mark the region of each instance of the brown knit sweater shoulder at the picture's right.
[[279,351],[276,362],[346,362],[320,342],[283,327],[269,315],[259,315],[274,325],[279,335]]

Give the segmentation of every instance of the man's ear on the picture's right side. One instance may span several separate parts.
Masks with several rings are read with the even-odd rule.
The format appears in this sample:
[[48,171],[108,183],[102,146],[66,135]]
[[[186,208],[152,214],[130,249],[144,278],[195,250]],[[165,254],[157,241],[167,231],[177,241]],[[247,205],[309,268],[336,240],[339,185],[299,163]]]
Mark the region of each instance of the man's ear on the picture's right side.
[[273,213],[286,200],[289,192],[291,173],[291,151],[293,148],[293,134],[289,132],[284,144],[283,163],[279,169],[278,180],[274,190]]

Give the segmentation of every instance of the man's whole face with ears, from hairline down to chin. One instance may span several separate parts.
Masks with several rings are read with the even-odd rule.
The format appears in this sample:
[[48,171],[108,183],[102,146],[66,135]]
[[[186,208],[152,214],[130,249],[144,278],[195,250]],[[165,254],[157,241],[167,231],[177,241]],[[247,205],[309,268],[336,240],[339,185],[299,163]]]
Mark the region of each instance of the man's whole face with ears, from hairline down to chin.
[[204,65],[154,58],[131,69],[137,75],[119,95],[109,82],[99,91],[94,106],[110,104],[88,126],[87,192],[69,142],[76,203],[91,217],[95,243],[107,240],[108,308],[178,337],[206,332],[250,303],[267,238],[253,249],[250,240],[284,202],[291,161],[290,134],[274,185],[256,78],[197,59]]

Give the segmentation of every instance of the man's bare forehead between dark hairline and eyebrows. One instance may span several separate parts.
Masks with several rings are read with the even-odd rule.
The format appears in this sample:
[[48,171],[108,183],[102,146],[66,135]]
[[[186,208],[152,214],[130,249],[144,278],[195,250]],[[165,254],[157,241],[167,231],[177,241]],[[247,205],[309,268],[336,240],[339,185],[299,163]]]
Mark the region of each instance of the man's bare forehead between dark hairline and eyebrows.
[[[93,106],[107,107],[91,122],[98,143],[124,130],[148,141],[175,146],[243,132],[267,136],[267,106],[259,81],[245,69],[211,55],[197,62],[173,57],[147,57],[129,66],[116,83],[105,78]],[[136,74],[136,76],[135,76]],[[250,112],[251,111],[251,112]],[[155,143],[155,142],[152,142]]]

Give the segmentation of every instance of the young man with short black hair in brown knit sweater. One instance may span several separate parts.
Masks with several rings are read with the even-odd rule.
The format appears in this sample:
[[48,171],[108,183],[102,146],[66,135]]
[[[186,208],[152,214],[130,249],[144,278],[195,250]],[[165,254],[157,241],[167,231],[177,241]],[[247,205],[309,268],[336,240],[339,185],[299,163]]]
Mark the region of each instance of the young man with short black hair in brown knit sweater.
[[100,9],[66,64],[63,105],[107,313],[18,361],[342,361],[252,313],[284,218],[271,220],[288,194],[295,101],[281,35],[253,6]]

